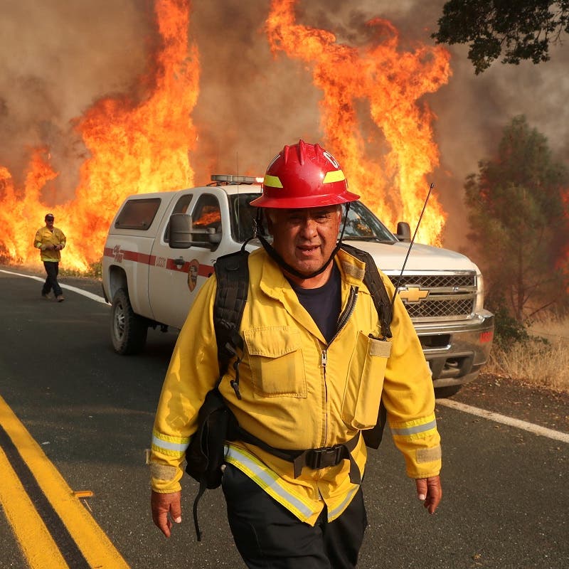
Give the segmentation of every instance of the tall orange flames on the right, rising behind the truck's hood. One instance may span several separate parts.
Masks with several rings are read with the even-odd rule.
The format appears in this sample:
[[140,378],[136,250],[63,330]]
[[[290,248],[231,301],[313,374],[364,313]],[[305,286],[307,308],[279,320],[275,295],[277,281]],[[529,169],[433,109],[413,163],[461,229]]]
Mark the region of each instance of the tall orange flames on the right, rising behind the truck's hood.
[[[324,92],[320,105],[326,145],[346,171],[351,191],[390,228],[401,217],[414,227],[428,191],[425,174],[439,164],[432,142],[434,115],[418,100],[447,83],[450,54],[427,46],[401,53],[398,32],[380,18],[367,24],[374,32],[373,45],[341,45],[333,33],[297,24],[295,4],[297,0],[272,0],[266,26],[272,52],[284,50],[311,65],[314,85]],[[368,139],[358,123],[364,101],[377,127]],[[388,150],[366,158],[366,146]],[[418,240],[440,244],[445,218],[433,196]]]

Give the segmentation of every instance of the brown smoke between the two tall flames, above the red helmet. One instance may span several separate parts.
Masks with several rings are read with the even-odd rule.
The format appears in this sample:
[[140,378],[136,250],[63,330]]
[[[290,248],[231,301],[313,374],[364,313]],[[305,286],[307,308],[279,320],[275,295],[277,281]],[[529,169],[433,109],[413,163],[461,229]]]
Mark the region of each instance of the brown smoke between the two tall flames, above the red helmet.
[[321,137],[321,95],[302,65],[270,53],[269,10],[268,1],[195,4],[191,33],[202,69],[193,115],[200,137],[192,156],[198,182],[209,181],[213,171],[262,176],[284,144]]

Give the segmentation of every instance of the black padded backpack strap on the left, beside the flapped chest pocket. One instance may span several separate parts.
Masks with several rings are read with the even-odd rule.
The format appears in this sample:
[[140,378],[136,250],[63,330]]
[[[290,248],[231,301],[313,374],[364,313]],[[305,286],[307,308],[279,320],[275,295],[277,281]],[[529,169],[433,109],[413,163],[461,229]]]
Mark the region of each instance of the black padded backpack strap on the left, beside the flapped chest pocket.
[[241,398],[239,393],[241,360],[238,349],[243,352],[243,338],[239,334],[239,326],[249,290],[248,257],[249,252],[242,249],[219,257],[213,265],[218,280],[216,300],[213,305],[213,326],[218,344],[218,385],[227,372],[230,359],[236,356],[237,360],[233,364],[235,379],[231,381],[231,387],[239,399]]

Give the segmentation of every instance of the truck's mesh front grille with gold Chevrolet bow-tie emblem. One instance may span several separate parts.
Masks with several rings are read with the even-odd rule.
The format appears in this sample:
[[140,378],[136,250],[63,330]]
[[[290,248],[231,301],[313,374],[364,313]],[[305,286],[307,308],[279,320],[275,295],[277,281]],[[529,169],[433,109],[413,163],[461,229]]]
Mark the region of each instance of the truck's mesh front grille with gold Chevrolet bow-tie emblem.
[[476,273],[390,276],[414,321],[469,318],[476,305]]

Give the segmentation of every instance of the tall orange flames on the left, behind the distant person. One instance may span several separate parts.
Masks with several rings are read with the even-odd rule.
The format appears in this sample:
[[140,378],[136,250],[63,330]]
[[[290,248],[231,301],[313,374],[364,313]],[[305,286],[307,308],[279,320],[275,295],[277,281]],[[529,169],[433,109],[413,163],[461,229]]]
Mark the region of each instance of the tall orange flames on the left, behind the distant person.
[[196,140],[190,115],[199,63],[196,46],[188,44],[189,0],[156,0],[155,13],[162,45],[147,98],[138,105],[128,97],[101,99],[76,124],[90,158],[81,166],[75,198],[60,206],[43,203],[41,188],[57,174],[41,151],[33,154],[21,191],[0,168],[0,219],[14,228],[0,238],[0,257],[38,265],[33,235],[53,211],[55,226],[68,236],[65,267],[85,271],[100,260],[110,220],[126,196],[193,185],[188,151]]

